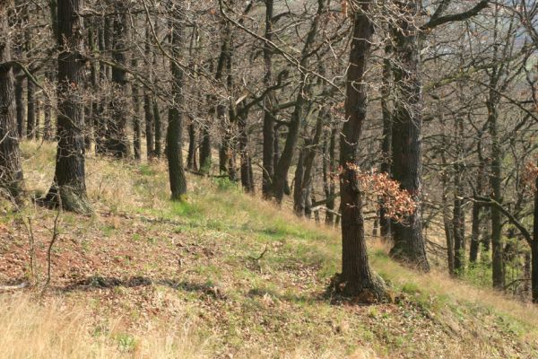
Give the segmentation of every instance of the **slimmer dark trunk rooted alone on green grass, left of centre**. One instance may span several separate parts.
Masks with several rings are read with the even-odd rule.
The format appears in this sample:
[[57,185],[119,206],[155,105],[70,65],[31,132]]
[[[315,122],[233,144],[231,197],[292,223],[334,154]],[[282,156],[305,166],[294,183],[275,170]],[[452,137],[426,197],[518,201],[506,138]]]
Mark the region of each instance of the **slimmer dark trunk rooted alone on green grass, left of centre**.
[[185,74],[178,65],[178,61],[183,57],[185,41],[185,4],[177,1],[171,5],[170,9],[170,31],[171,31],[171,60],[172,69],[172,106],[169,108],[169,124],[166,135],[166,157],[169,164],[171,199],[181,200],[187,193],[187,179],[183,168],[183,118],[185,112]]

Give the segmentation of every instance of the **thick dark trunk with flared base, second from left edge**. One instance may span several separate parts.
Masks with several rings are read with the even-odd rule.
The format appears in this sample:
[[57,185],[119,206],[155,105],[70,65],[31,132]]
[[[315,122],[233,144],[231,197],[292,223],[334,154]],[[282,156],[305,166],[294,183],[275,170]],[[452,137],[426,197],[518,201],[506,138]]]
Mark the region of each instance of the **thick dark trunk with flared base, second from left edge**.
[[[58,0],[58,98],[56,169],[45,201],[81,214],[91,213],[84,172],[83,0]],[[61,200],[60,200],[61,199]]]

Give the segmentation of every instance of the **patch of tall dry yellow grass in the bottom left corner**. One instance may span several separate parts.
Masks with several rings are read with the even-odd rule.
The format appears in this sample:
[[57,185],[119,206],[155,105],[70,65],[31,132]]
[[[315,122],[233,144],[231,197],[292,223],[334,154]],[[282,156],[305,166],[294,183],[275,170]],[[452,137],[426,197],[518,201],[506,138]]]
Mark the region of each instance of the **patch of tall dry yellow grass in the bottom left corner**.
[[118,319],[96,332],[86,311],[61,300],[39,305],[26,294],[3,294],[0,308],[2,359],[205,357],[204,343],[187,324],[130,337],[122,333]]

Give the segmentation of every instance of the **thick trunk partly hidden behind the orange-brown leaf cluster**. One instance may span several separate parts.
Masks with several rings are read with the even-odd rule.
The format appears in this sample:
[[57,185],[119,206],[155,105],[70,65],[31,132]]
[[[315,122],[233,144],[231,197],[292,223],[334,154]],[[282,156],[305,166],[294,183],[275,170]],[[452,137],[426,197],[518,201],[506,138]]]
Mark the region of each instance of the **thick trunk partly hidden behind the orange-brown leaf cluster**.
[[430,270],[422,236],[422,87],[419,30],[409,22],[419,13],[415,0],[402,4],[406,16],[395,33],[395,114],[393,120],[393,176],[418,203],[404,223],[393,223],[395,245],[391,255],[421,270]]

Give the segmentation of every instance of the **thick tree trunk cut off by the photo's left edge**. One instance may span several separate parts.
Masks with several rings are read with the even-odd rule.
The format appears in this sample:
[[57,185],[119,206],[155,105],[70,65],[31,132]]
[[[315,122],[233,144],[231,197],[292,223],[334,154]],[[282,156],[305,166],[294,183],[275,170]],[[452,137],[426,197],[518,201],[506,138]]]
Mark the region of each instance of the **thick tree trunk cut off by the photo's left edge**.
[[[0,3],[0,64],[11,61],[7,11],[7,4]],[[23,184],[13,86],[13,68],[0,66],[0,188],[17,199],[22,195]]]

